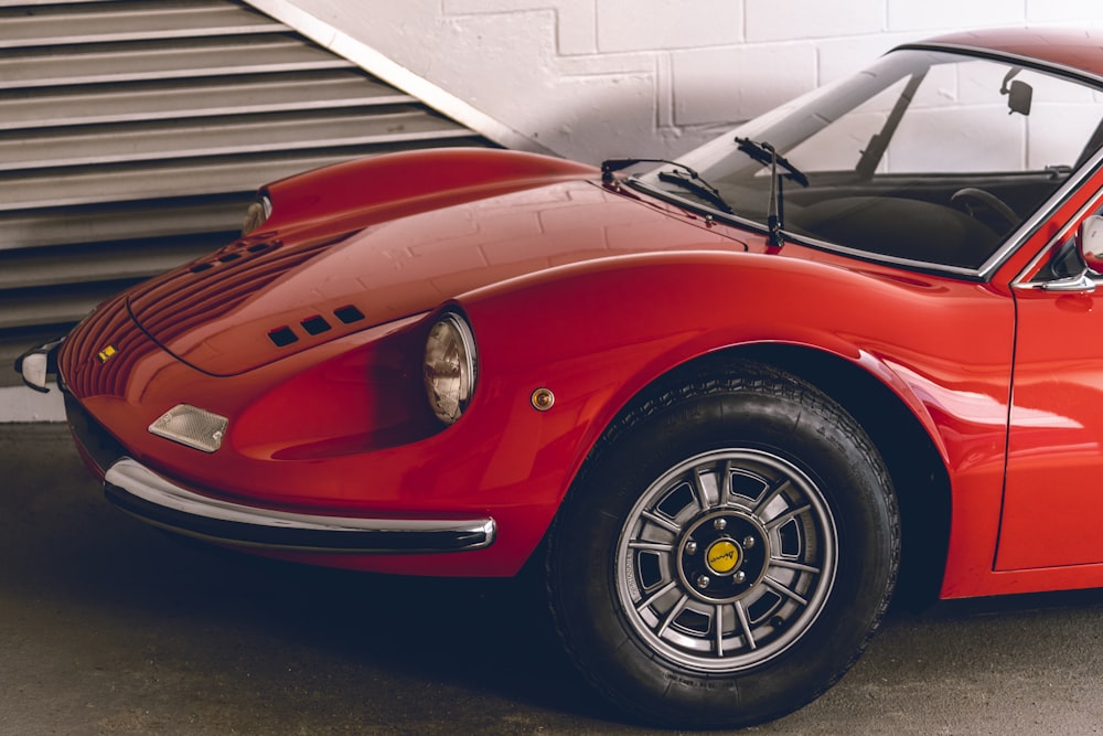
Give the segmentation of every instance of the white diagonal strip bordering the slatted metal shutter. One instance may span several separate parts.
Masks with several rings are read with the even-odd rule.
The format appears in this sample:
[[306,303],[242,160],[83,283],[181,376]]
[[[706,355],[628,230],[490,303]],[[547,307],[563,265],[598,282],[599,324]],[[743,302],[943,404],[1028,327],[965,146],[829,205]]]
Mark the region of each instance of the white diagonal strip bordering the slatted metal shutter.
[[501,120],[472,107],[456,95],[438,87],[405,66],[372,49],[363,41],[308,13],[293,0],[245,0],[263,13],[295,29],[323,49],[342,56],[383,82],[417,97],[441,115],[471,128],[494,142],[521,151],[557,156],[533,138],[517,132]]

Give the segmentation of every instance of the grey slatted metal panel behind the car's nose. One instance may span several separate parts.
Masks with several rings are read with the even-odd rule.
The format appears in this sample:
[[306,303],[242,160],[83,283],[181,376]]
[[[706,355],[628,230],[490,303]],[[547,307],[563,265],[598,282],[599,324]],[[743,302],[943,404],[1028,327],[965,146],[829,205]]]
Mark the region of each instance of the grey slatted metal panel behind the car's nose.
[[0,0],[0,355],[222,245],[266,181],[493,145],[235,0]]

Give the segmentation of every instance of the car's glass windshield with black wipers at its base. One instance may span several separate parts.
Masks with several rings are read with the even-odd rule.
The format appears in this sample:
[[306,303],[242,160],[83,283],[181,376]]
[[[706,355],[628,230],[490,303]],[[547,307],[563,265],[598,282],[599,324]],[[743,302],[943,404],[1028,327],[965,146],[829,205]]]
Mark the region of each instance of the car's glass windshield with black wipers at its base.
[[900,50],[639,181],[777,242],[977,269],[1099,148],[1101,120],[1088,83]]

